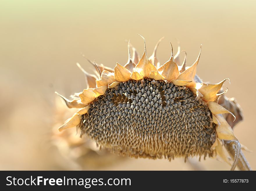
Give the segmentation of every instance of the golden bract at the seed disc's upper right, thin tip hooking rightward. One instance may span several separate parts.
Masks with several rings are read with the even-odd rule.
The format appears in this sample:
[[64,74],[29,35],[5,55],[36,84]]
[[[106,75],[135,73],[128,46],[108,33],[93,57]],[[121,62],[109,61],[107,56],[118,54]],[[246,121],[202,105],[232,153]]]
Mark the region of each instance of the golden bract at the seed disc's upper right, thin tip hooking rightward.
[[224,79],[220,83],[217,84],[206,84],[202,83],[202,87],[199,89],[199,91],[203,94],[203,100],[204,101],[215,101],[217,99],[217,93],[220,91],[223,83],[229,80],[228,78]]

